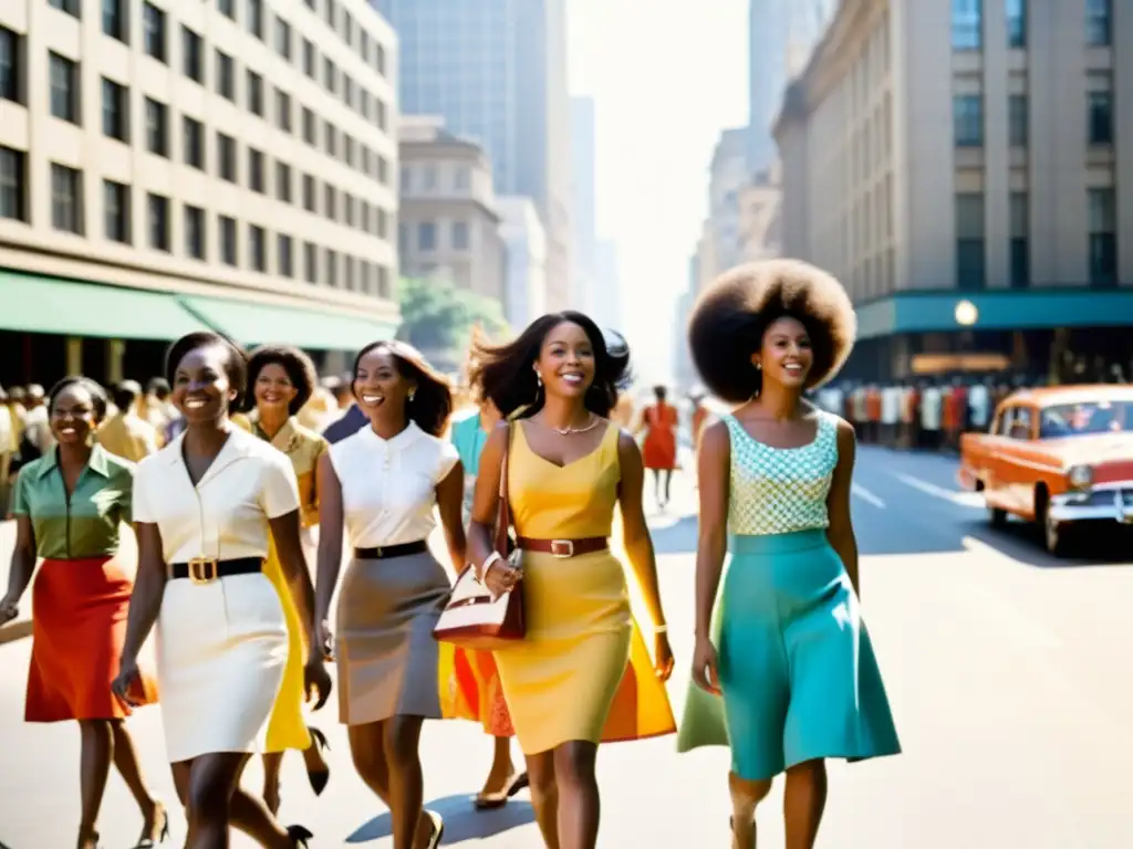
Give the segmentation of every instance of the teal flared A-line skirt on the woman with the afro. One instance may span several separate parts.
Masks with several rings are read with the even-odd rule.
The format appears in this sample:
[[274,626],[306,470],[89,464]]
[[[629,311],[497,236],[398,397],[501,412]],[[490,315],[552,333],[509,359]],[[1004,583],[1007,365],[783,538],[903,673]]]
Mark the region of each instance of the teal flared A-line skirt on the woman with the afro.
[[820,530],[733,537],[713,642],[723,698],[690,683],[678,749],[730,746],[761,781],[901,752],[858,597]]

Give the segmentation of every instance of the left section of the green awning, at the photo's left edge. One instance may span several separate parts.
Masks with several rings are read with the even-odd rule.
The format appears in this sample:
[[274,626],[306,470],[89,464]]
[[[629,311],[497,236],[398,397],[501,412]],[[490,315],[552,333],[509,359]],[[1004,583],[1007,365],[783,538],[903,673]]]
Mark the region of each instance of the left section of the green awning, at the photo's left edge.
[[170,341],[208,326],[164,292],[0,269],[0,329]]

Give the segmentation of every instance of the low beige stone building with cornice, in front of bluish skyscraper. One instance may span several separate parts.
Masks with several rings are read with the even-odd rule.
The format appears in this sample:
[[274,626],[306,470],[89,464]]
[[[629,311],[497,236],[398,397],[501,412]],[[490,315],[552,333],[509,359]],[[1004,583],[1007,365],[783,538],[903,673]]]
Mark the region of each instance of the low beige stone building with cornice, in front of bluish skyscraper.
[[403,115],[398,129],[404,276],[440,276],[504,302],[504,247],[484,148],[444,129],[444,119]]

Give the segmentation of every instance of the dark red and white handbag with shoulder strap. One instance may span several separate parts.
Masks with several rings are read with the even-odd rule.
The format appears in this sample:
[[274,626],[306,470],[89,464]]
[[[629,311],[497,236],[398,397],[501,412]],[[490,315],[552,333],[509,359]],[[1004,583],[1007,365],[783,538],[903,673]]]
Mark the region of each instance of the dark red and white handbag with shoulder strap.
[[[496,503],[496,518],[493,549],[514,569],[520,568],[522,552],[511,546],[508,535],[511,529],[511,508],[508,505],[508,458],[511,454],[511,428],[508,426],[508,443],[503,464],[500,468],[500,498]],[[493,595],[487,586],[476,577],[476,567],[465,566],[441,618],[433,628],[433,636],[445,643],[476,651],[497,651],[522,640],[527,634],[523,617],[523,582],[501,595]]]

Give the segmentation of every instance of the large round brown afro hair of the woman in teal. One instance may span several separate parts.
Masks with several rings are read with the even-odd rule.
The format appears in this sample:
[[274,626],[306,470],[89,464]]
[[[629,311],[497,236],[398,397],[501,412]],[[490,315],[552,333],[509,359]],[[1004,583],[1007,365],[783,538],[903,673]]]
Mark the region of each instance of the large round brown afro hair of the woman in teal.
[[810,336],[808,389],[838,372],[857,333],[853,305],[842,284],[796,259],[749,263],[721,275],[689,318],[692,361],[715,395],[741,404],[759,393],[763,372],[752,367],[751,354],[781,318],[794,318]]

